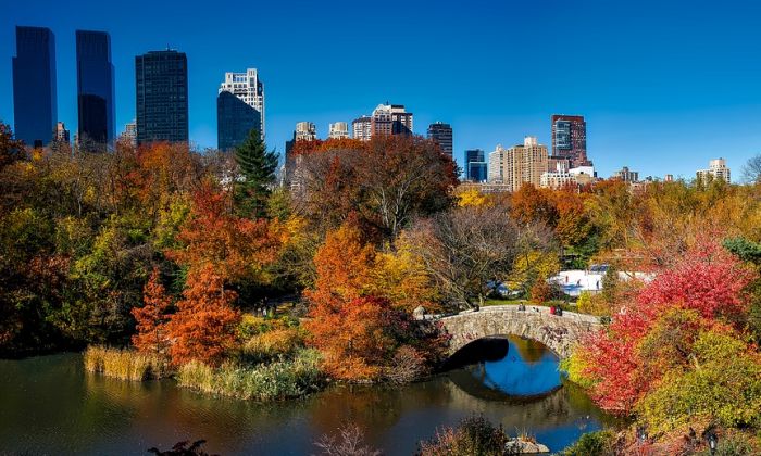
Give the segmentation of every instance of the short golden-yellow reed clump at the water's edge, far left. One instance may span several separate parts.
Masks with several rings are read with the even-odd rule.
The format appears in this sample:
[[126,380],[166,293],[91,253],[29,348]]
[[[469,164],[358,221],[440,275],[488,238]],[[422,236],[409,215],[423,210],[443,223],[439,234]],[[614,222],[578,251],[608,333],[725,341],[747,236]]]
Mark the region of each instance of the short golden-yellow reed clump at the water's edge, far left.
[[167,360],[159,355],[147,355],[133,350],[88,346],[85,369],[122,380],[142,381],[169,377]]

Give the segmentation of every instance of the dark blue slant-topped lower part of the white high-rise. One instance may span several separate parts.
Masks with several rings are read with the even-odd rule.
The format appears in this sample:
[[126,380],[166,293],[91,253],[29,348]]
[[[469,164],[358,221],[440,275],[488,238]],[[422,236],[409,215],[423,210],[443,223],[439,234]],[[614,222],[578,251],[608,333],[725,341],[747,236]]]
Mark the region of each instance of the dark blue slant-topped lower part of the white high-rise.
[[[255,129],[262,131],[262,116],[255,109],[228,91],[216,97],[216,147],[229,151],[240,145]],[[261,135],[260,135],[261,136]]]

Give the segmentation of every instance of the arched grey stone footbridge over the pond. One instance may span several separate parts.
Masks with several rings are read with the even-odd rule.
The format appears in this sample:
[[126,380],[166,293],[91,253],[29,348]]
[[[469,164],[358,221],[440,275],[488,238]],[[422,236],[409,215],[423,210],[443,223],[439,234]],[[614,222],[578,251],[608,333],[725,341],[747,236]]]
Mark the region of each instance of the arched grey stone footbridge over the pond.
[[431,316],[442,324],[442,330],[451,335],[449,355],[469,343],[495,335],[520,335],[541,342],[561,358],[571,355],[571,349],[582,335],[602,327],[598,317],[563,312],[552,315],[549,307],[517,305],[482,307],[481,311],[464,311],[451,316]]

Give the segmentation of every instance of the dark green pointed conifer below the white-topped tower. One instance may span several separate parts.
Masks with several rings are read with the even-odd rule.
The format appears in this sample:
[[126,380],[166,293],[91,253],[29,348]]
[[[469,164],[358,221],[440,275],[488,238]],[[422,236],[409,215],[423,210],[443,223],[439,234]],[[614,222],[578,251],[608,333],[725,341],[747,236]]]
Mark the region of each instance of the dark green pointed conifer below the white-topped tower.
[[267,151],[260,131],[252,129],[235,149],[235,161],[240,170],[240,178],[235,180],[237,212],[245,217],[265,216],[269,186],[275,180],[278,154]]

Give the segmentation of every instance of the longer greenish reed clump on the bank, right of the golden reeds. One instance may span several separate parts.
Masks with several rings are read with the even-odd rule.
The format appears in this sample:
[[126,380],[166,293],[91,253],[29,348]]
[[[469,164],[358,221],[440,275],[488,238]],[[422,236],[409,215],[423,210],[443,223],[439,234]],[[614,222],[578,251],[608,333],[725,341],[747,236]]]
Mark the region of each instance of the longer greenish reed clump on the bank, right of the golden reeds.
[[180,387],[214,395],[242,400],[273,401],[298,397],[316,391],[323,376],[315,350],[300,350],[294,359],[280,359],[254,367],[224,364],[215,369],[191,362],[179,368]]

